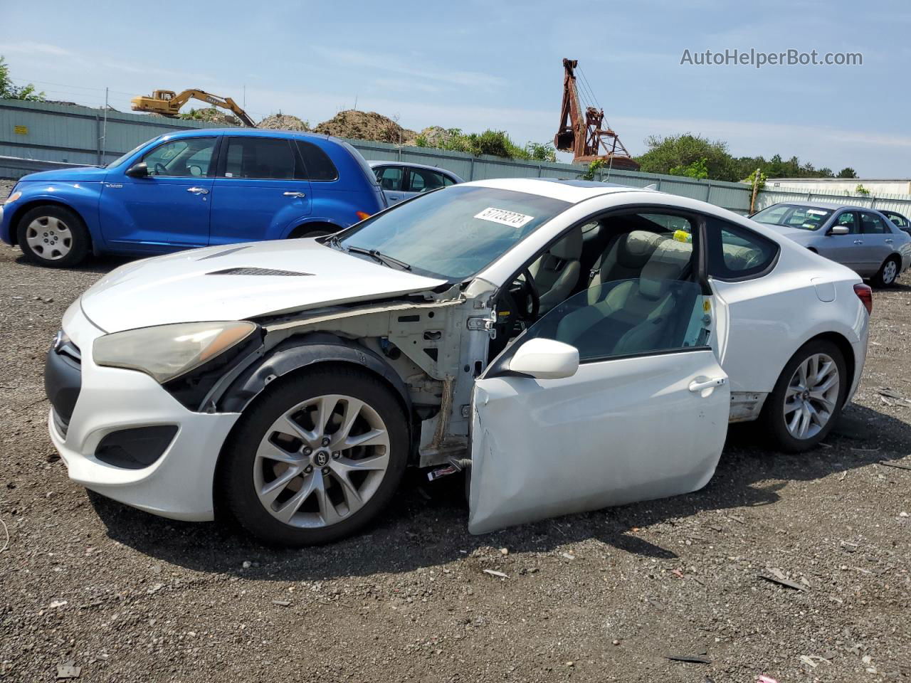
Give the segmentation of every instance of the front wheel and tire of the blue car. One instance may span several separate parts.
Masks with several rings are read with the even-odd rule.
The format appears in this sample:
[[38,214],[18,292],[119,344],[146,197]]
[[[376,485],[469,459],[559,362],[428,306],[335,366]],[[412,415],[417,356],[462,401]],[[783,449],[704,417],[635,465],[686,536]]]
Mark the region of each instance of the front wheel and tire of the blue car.
[[29,209],[16,238],[26,259],[49,268],[72,268],[86,258],[91,240],[75,211],[54,204]]

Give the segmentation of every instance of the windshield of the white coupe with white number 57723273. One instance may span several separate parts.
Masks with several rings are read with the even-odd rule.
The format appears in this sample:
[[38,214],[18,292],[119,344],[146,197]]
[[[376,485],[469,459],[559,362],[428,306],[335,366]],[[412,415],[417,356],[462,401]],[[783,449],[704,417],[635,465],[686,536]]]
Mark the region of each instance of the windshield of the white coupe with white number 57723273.
[[525,192],[454,185],[366,219],[338,243],[375,250],[415,272],[465,280],[569,206]]

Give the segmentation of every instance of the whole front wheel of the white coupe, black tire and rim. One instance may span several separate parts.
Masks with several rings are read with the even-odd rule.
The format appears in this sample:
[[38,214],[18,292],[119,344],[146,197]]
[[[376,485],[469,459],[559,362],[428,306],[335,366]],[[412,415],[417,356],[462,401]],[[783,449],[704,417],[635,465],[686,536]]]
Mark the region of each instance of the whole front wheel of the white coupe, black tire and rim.
[[300,373],[241,417],[221,491],[253,535],[280,545],[325,543],[382,509],[407,452],[404,412],[382,382],[337,367]]

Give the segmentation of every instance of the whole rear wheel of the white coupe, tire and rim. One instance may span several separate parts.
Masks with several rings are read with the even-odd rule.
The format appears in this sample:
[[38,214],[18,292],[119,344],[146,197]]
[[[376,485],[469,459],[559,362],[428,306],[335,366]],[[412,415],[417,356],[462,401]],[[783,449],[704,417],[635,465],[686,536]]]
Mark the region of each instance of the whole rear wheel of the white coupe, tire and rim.
[[807,342],[784,366],[763,406],[773,445],[786,453],[813,448],[832,431],[850,379],[833,342]]

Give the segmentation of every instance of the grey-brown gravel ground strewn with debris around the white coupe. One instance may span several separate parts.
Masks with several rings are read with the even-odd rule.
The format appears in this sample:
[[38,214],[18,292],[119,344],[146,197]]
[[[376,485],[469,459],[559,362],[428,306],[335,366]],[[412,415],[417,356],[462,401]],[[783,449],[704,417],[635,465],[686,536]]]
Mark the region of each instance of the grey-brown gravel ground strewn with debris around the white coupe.
[[[367,533],[276,551],[67,479],[43,357],[117,263],[44,270],[0,247],[0,678],[911,678],[911,470],[879,464],[911,464],[911,408],[876,391],[911,396],[911,288],[876,292],[863,385],[813,453],[740,428],[696,494],[485,536],[460,482],[415,474]],[[759,577],[776,573],[800,589]]]

